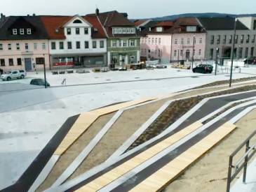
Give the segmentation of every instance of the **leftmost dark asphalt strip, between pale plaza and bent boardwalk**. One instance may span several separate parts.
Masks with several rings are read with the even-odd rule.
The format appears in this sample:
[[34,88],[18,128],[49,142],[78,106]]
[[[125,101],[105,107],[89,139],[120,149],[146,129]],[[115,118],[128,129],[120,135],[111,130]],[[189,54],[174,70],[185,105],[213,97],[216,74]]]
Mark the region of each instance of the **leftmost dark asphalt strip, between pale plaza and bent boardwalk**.
[[20,179],[18,179],[18,181],[15,184],[8,186],[6,189],[1,190],[1,192],[28,191],[30,186],[32,186],[32,184],[36,180],[36,177],[39,176],[41,170],[43,170],[46,163],[48,163],[50,157],[53,156],[53,153],[60,145],[60,142],[62,142],[63,138],[65,138],[65,135],[67,135],[69,129],[73,126],[74,122],[78,117],[79,115],[69,117],[65,121],[65,123],[60,127],[59,131],[55,133],[53,138],[48,142],[46,147],[44,147],[40,154],[36,156],[33,163],[29,165],[29,168],[25,170]]

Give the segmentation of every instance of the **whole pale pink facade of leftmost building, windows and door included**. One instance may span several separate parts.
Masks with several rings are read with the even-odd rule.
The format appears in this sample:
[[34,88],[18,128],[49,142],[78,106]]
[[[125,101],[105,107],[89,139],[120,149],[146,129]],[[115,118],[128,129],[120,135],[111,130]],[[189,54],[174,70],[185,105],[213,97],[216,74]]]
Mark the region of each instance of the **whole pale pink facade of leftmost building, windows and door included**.
[[6,71],[49,68],[48,40],[0,40],[0,68]]

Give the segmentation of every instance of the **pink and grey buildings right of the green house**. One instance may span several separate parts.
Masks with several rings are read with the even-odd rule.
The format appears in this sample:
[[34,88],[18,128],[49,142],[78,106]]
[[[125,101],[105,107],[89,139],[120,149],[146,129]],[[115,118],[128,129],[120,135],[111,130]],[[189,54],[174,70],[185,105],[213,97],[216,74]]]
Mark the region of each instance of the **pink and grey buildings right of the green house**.
[[[156,22],[137,20],[143,59],[159,59],[163,63],[193,59],[230,58],[234,40],[232,17],[179,18]],[[236,21],[234,57],[255,56],[256,17]]]

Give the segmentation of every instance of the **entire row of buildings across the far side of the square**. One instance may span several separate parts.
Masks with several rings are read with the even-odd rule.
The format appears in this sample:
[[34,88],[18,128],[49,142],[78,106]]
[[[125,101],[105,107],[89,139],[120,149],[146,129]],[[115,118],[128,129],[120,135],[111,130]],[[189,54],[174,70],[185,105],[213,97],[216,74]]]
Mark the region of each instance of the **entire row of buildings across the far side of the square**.
[[[0,17],[0,68],[123,66],[144,60],[230,58],[232,17],[128,20],[127,13]],[[256,17],[236,22],[234,57],[255,56]]]

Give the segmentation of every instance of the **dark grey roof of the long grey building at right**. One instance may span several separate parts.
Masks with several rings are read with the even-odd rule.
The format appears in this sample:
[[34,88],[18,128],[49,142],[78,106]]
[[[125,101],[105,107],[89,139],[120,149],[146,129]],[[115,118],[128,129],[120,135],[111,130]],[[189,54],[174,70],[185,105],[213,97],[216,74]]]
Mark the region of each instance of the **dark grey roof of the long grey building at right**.
[[[198,17],[199,22],[206,31],[211,30],[234,30],[234,17]],[[248,30],[240,21],[236,22],[237,30]]]

